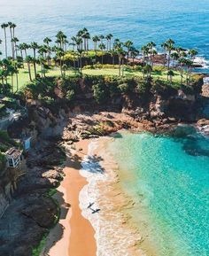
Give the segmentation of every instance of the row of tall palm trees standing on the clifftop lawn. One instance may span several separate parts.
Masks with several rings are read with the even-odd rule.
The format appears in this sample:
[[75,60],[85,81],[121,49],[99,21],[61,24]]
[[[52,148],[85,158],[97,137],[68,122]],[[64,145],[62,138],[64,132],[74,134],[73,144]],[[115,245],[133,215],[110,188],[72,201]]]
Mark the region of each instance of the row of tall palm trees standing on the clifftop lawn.
[[[108,56],[111,57],[108,58],[111,59],[111,63],[108,64],[112,64],[113,67],[117,64],[120,76],[124,74],[125,64],[139,63],[142,66],[143,77],[146,76],[149,79],[155,63],[155,56],[158,54],[156,44],[153,42],[147,43],[143,45],[141,50],[137,50],[130,40],[122,43],[118,38],[113,40],[112,34],[91,36],[86,27],[79,30],[70,40],[62,31],[59,31],[55,36],[54,42],[50,37],[45,37],[43,44],[35,42],[29,44],[19,43],[19,39],[15,36],[16,25],[12,22],[3,23],[1,27],[4,39],[0,39],[0,44],[4,40],[4,58],[0,59],[0,81],[4,86],[4,83],[7,84],[7,77],[11,76],[12,88],[14,74],[16,75],[18,87],[19,68],[24,67],[25,64],[27,65],[30,81],[40,76],[37,66],[41,67],[42,77],[45,76],[46,70],[51,66],[59,66],[60,74],[65,76],[68,68],[65,61],[66,53],[70,53],[73,56],[74,68],[80,70],[80,72],[84,57],[89,58],[97,68],[98,60],[103,66],[104,56]],[[8,39],[10,39],[10,43],[8,43]],[[11,45],[11,50],[9,45]],[[185,50],[181,47],[176,47],[172,39],[162,43],[161,47],[164,50],[164,66],[167,68],[167,80],[172,82],[174,70],[179,70],[183,80],[183,74],[186,70],[186,80],[190,81],[192,65],[197,55],[197,50]],[[92,50],[95,53],[93,57],[89,55],[89,51]],[[8,56],[9,52],[12,56]],[[141,62],[135,61],[135,58],[140,54],[142,55]],[[0,51],[0,55],[3,55],[2,51]],[[34,70],[34,77],[32,69]]]

